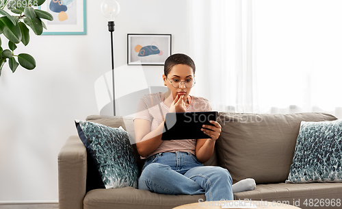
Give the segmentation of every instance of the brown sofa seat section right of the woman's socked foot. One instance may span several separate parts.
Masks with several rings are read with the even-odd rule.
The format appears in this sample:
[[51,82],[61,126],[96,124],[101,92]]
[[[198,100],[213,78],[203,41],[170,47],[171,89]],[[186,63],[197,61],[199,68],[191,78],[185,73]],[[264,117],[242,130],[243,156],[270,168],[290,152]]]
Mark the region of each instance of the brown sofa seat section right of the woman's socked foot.
[[[342,183],[258,184],[254,190],[234,193],[235,199],[274,201],[274,206],[291,204],[299,208],[341,208]],[[321,204],[321,205],[320,205]],[[281,207],[274,207],[281,208]]]

